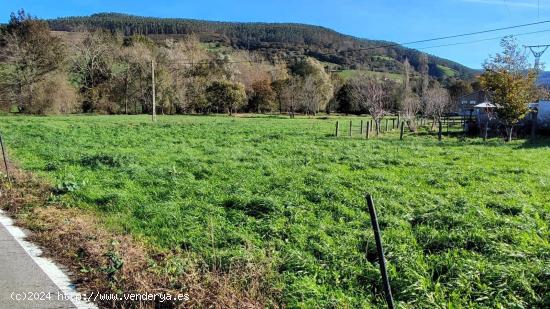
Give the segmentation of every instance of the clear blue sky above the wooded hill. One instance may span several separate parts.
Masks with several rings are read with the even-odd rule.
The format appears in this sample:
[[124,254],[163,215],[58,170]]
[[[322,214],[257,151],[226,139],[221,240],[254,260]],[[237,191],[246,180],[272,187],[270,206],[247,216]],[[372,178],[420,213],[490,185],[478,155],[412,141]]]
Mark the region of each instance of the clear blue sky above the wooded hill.
[[[540,2],[540,6],[539,6]],[[24,8],[41,18],[120,12],[144,16],[222,21],[299,22],[321,25],[369,39],[408,42],[420,39],[550,20],[550,0],[1,0],[0,21]],[[508,34],[520,44],[550,44],[550,23],[497,33],[410,45],[413,48],[462,43]],[[472,68],[499,50],[498,40],[424,49]],[[542,61],[550,60],[550,52]]]

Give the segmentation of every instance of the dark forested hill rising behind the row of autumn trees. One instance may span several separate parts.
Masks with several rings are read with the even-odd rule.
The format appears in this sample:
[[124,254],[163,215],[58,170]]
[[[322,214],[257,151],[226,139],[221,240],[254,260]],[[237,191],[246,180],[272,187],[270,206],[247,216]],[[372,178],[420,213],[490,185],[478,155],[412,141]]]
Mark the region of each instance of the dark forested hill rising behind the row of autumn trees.
[[[195,34],[201,41],[238,49],[261,51],[271,58],[308,55],[334,63],[338,69],[364,68],[399,72],[407,57],[419,67],[420,52],[390,42],[359,39],[334,30],[292,23],[236,23],[181,18],[140,17],[100,13],[48,20],[52,30],[108,29],[124,35],[156,37]],[[469,78],[475,72],[459,63],[429,56],[430,74],[436,78]]]

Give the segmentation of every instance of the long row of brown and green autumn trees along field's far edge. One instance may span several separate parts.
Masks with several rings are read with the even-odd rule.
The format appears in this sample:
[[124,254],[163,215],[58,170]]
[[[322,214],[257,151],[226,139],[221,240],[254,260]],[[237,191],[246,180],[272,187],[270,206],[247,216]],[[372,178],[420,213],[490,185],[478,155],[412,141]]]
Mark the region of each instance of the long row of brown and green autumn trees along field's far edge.
[[159,43],[100,29],[62,38],[20,11],[1,28],[0,103],[27,114],[151,113],[154,67],[156,112],[162,114],[370,114],[380,130],[384,116],[399,113],[416,131],[419,115],[436,123],[456,110],[457,97],[483,88],[502,106],[497,112],[511,132],[540,93],[536,72],[527,69],[517,45],[504,40],[503,47],[480,81],[454,80],[445,87],[431,77],[425,54],[418,70],[403,61],[399,82],[367,71],[346,79],[312,57],[212,51],[194,35]]

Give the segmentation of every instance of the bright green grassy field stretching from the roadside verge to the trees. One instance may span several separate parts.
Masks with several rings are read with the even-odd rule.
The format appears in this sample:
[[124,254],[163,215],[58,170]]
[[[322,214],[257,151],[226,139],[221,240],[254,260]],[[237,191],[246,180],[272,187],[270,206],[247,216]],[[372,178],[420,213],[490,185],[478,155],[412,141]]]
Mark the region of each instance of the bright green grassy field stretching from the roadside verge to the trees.
[[0,131],[54,201],[220,269],[268,261],[288,307],[383,306],[366,192],[400,305],[550,304],[549,140],[365,140],[353,119],[354,138],[336,118],[3,116]]

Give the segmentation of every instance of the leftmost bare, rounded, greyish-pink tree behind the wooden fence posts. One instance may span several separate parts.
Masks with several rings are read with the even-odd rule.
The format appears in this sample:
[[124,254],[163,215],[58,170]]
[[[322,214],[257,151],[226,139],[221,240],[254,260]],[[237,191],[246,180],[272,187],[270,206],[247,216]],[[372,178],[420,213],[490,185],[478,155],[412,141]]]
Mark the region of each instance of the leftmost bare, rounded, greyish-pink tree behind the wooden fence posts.
[[364,105],[376,123],[376,133],[380,133],[380,121],[388,114],[390,103],[383,81],[366,74],[359,74],[352,80],[353,97]]

